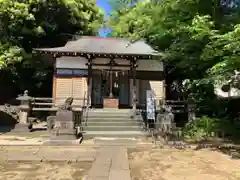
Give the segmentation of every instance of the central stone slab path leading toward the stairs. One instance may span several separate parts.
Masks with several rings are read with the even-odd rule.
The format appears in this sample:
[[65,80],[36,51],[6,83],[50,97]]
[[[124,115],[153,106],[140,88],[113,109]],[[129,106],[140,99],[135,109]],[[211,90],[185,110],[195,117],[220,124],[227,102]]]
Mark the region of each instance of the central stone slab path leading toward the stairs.
[[127,149],[100,148],[89,170],[87,180],[131,180]]

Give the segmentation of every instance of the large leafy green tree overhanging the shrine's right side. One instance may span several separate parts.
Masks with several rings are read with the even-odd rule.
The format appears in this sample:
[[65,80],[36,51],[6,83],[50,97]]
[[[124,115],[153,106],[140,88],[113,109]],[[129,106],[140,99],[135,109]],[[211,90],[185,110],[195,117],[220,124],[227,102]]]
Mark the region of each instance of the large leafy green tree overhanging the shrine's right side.
[[177,89],[214,114],[214,81],[240,68],[239,24],[239,1],[149,0],[122,6],[107,25],[111,36],[145,39],[164,52],[168,85],[176,81]]

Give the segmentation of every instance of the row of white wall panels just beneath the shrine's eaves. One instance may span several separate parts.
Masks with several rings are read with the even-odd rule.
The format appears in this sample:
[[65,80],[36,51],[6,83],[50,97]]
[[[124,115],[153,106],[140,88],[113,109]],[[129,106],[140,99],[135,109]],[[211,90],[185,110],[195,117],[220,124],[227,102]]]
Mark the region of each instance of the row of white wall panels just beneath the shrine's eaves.
[[[93,60],[94,63],[104,64],[108,63],[109,59],[97,58]],[[128,60],[116,59],[118,64],[129,64]],[[87,69],[87,59],[84,57],[60,57],[56,59],[56,68],[72,68],[72,69]],[[163,63],[157,60],[138,60],[138,71],[163,71]],[[93,66],[93,69],[109,69],[107,66]],[[113,67],[113,69],[128,70],[128,67]]]

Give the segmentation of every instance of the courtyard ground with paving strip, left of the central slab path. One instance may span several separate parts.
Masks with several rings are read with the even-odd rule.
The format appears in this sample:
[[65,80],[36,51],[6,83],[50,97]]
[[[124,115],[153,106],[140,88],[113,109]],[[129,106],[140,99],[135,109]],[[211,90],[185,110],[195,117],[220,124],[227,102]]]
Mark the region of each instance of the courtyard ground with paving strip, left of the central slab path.
[[2,146],[1,180],[82,180],[97,155],[94,148]]

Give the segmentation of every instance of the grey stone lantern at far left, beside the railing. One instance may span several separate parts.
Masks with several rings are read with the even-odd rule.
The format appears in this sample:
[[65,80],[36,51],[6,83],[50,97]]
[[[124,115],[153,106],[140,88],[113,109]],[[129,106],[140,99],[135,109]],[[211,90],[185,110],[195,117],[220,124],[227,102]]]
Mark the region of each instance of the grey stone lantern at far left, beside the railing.
[[29,112],[31,110],[30,101],[32,100],[32,97],[28,96],[28,91],[25,90],[24,94],[17,97],[16,99],[21,101],[21,105],[19,106],[19,123],[27,124]]

